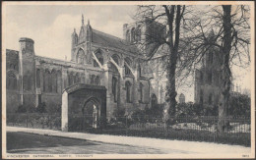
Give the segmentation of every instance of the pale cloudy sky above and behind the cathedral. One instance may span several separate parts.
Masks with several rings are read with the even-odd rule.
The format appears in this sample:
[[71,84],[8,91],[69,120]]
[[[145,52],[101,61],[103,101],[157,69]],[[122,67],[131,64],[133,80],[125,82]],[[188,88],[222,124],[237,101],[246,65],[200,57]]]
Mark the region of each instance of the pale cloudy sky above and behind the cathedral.
[[[8,5],[6,7],[4,43],[6,48],[19,50],[19,38],[34,40],[35,55],[70,60],[71,34],[79,33],[82,14],[85,24],[117,37],[123,36],[123,24],[132,23],[136,6],[67,6],[67,5]],[[234,83],[250,88],[250,70],[235,68]],[[194,86],[180,87],[186,101],[193,101]]]

